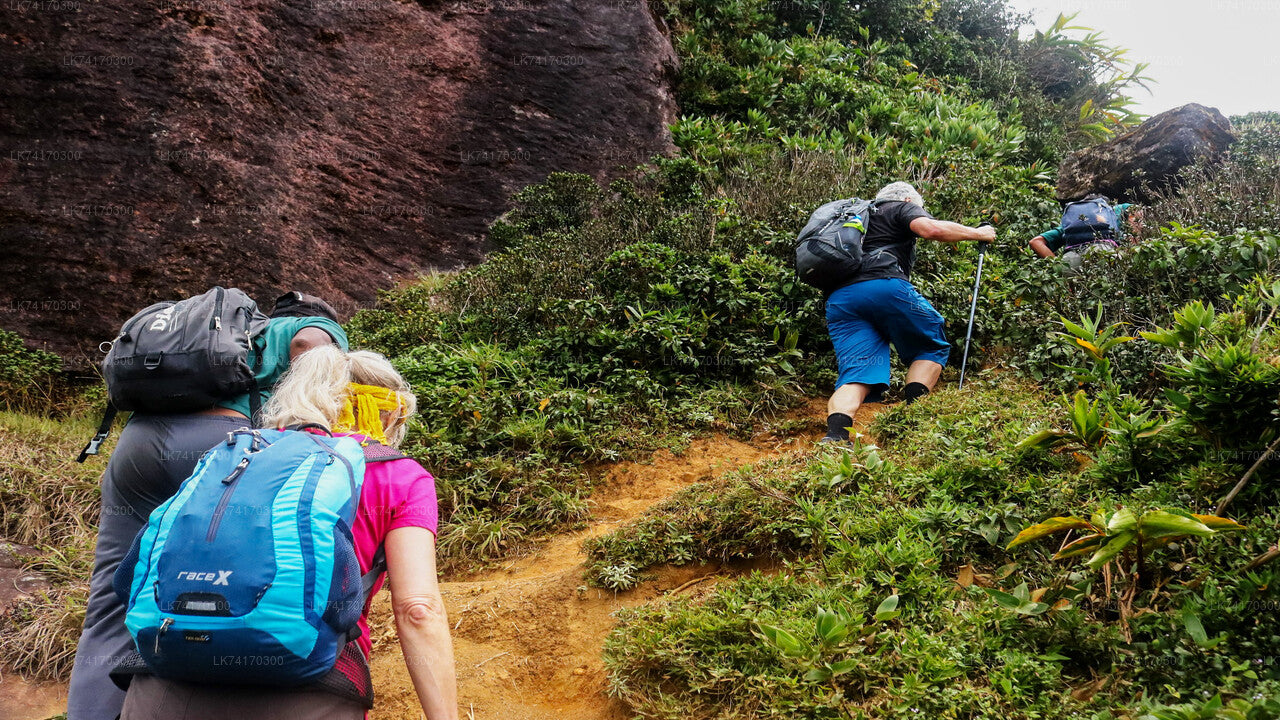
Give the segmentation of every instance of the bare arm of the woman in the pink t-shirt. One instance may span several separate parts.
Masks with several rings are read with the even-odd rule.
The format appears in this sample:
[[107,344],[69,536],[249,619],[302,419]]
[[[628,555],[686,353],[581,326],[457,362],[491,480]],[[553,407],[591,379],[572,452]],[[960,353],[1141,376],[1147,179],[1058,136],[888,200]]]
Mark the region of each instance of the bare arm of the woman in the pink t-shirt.
[[435,536],[426,528],[387,534],[387,574],[404,665],[428,720],[458,720],[449,619],[435,577]]

